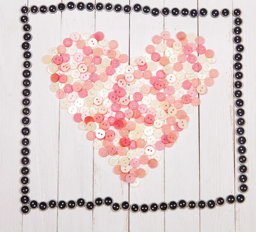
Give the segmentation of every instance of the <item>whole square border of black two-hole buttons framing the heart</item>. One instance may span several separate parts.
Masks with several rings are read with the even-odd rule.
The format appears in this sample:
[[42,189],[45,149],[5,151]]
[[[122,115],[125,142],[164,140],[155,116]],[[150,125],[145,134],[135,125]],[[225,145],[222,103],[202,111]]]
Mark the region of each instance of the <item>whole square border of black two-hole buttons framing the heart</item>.
[[[23,87],[22,90],[22,120],[21,123],[23,124],[23,128],[21,130],[21,133],[23,134],[23,138],[21,139],[21,144],[23,147],[21,148],[21,155],[23,156],[20,160],[21,164],[23,165],[20,169],[20,173],[22,174],[22,177],[20,178],[20,183],[22,187],[20,188],[20,192],[22,196],[20,197],[20,202],[22,203],[22,206],[20,208],[20,211],[22,214],[28,214],[30,212],[30,209],[37,209],[39,208],[41,211],[45,211],[48,208],[49,209],[55,209],[56,207],[58,209],[75,209],[76,207],[85,207],[87,210],[93,210],[95,207],[100,207],[102,205],[110,206],[113,212],[118,212],[119,210],[130,210],[131,212],[156,212],[158,210],[165,212],[166,210],[175,210],[175,209],[205,209],[206,207],[209,209],[213,209],[216,206],[223,206],[225,202],[228,204],[233,203],[243,203],[245,200],[245,197],[243,194],[238,194],[236,197],[234,195],[228,195],[226,198],[224,197],[217,197],[216,200],[198,200],[198,202],[194,200],[189,200],[188,202],[186,200],[178,200],[176,201],[170,201],[169,203],[161,202],[159,204],[157,203],[150,203],[149,205],[144,203],[142,205],[138,205],[137,203],[130,204],[128,201],[123,201],[122,203],[113,202],[113,199],[111,197],[105,197],[104,199],[102,197],[96,197],[94,201],[85,201],[84,198],[79,198],[78,200],[68,200],[67,202],[65,200],[49,200],[47,203],[46,201],[41,201],[38,203],[37,200],[30,200],[30,197],[27,195],[29,194],[29,177],[28,174],[30,173],[29,165],[30,159],[30,139],[27,137],[30,134],[30,129],[26,127],[30,123],[30,118],[27,117],[31,113],[30,108],[28,107],[31,104],[31,100],[29,99],[29,96],[31,96],[31,90],[29,87],[31,86],[30,77],[32,76],[31,71],[29,70],[32,66],[32,63],[30,61],[30,58],[32,57],[32,53],[29,51],[31,48],[29,41],[32,40],[31,30],[32,27],[29,22],[28,14],[29,12],[31,14],[37,14],[40,12],[41,14],[46,14],[47,12],[54,14],[57,11],[63,12],[65,10],[74,10],[77,9],[79,11],[87,10],[87,11],[102,11],[105,9],[107,12],[111,12],[114,10],[114,12],[124,12],[125,14],[130,14],[132,11],[135,13],[143,12],[143,14],[151,14],[154,17],[157,17],[158,15],[162,14],[163,16],[169,16],[172,15],[174,17],[177,17],[181,15],[182,17],[186,17],[190,15],[192,18],[196,17],[206,17],[208,14],[208,10],[205,8],[201,8],[198,12],[197,9],[192,9],[189,11],[187,8],[178,9],[178,8],[172,8],[169,9],[168,7],[163,7],[161,10],[158,8],[150,8],[150,6],[141,6],[140,4],[136,3],[134,6],[125,5],[122,6],[121,4],[115,4],[112,3],[106,3],[105,5],[103,3],[96,3],[95,5],[93,3],[83,3],[79,2],[77,4],[73,2],[67,3],[58,3],[57,6],[50,5],[49,7],[45,5],[41,6],[31,6],[30,8],[28,6],[22,6],[21,16],[20,16],[20,22],[22,23],[22,30],[25,32],[23,35],[23,44],[21,48],[23,49],[23,58],[22,66],[24,68],[23,70]],[[210,15],[214,18],[219,17],[220,15],[223,17],[228,17],[230,15],[229,9],[222,9],[221,11],[218,11],[217,9],[213,9],[210,11]],[[247,172],[247,166],[244,165],[245,162],[247,162],[247,158],[244,156],[246,153],[246,147],[244,146],[244,143],[246,142],[244,135],[244,128],[242,126],[244,125],[245,121],[242,116],[244,116],[244,110],[241,108],[244,105],[244,101],[241,99],[242,92],[242,82],[241,79],[243,78],[243,73],[240,71],[242,69],[242,55],[241,52],[244,51],[244,46],[241,44],[242,38],[240,34],[242,33],[241,24],[243,20],[241,19],[241,10],[240,9],[234,9],[233,10],[233,33],[234,33],[234,39],[233,39],[233,45],[234,45],[234,52],[236,54],[233,54],[234,57],[234,106],[236,107],[236,116],[238,119],[236,120],[237,127],[235,128],[236,134],[239,136],[237,141],[237,144],[239,145],[237,148],[237,153],[239,154],[239,163],[241,165],[239,166],[238,170],[241,173],[238,177],[240,186],[239,191],[241,193],[245,193],[248,191],[248,186],[245,184],[248,180],[248,177],[244,174]],[[237,60],[238,59],[238,60]],[[236,62],[239,61],[239,62]],[[235,63],[236,62],[236,63]],[[237,81],[236,81],[237,80]],[[235,91],[236,89],[236,91]],[[239,90],[239,91],[238,91]],[[236,162],[236,160],[235,160]]]

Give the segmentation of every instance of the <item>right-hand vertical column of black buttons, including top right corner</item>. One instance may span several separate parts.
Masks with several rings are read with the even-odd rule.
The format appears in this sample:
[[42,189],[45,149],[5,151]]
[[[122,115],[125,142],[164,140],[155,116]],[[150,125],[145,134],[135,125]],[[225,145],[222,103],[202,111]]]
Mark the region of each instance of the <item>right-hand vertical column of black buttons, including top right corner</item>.
[[246,153],[246,147],[244,146],[246,143],[246,138],[244,137],[244,124],[245,120],[243,118],[244,116],[244,109],[242,108],[244,106],[244,101],[242,99],[242,82],[241,79],[243,78],[243,73],[241,72],[242,70],[242,52],[244,51],[244,46],[241,44],[242,42],[242,37],[241,37],[241,25],[243,23],[243,20],[241,19],[241,10],[240,9],[234,9],[233,10],[233,33],[234,33],[234,38],[233,42],[235,45],[235,54],[234,54],[234,97],[235,97],[235,107],[236,107],[236,116],[238,116],[238,119],[236,120],[236,134],[239,136],[237,138],[237,143],[238,143],[238,148],[237,152],[239,154],[238,161],[241,164],[239,166],[239,172],[240,175],[238,177],[240,186],[239,186],[239,191],[242,193],[245,193],[248,190],[247,185],[245,184],[247,182],[247,176],[245,173],[247,172],[247,166],[244,165],[245,162],[247,162],[247,157],[244,155]]

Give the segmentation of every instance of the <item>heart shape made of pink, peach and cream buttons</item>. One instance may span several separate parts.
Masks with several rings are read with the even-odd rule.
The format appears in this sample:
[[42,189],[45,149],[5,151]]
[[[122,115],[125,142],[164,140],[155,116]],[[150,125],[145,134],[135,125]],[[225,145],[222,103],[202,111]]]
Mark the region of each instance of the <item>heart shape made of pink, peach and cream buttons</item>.
[[185,32],[176,37],[167,31],[154,35],[130,65],[118,42],[102,32],[73,33],[43,57],[61,108],[132,187],[148,167],[157,167],[157,151],[173,146],[200,104],[198,94],[206,94],[218,77],[214,52],[203,37]]

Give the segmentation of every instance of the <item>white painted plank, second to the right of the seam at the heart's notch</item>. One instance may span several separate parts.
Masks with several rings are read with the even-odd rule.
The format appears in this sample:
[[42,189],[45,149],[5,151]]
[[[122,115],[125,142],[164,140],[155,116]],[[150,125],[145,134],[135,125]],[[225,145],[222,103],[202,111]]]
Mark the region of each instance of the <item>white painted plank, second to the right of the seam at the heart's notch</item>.
[[[172,9],[171,2],[165,1],[165,6]],[[197,0],[179,1],[175,7],[182,9],[197,9]],[[165,17],[165,29],[176,38],[177,32],[198,32],[198,19],[188,17]],[[179,133],[179,138],[172,148],[165,150],[165,200],[180,199],[199,200],[199,129],[198,107],[188,114],[188,127]],[[166,231],[198,232],[200,226],[199,210],[177,209],[165,213]]]

